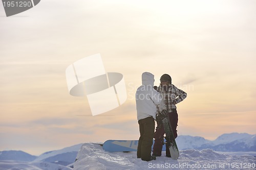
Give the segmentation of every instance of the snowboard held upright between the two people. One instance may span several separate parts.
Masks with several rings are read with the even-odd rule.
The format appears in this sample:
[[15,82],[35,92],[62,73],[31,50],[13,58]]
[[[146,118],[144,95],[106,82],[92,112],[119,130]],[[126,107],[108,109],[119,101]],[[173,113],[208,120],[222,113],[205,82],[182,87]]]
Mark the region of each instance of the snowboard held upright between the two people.
[[[168,117],[168,113],[165,109],[163,109],[158,115],[158,119],[162,121],[163,128],[165,132],[166,143],[169,143],[170,156],[172,159],[177,160],[179,158],[179,150],[175,141],[175,137],[173,134],[172,126],[170,126],[170,120]],[[166,144],[165,143],[165,144]]]

